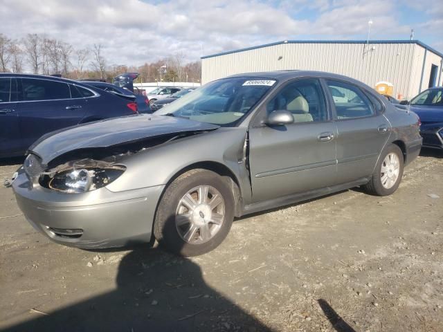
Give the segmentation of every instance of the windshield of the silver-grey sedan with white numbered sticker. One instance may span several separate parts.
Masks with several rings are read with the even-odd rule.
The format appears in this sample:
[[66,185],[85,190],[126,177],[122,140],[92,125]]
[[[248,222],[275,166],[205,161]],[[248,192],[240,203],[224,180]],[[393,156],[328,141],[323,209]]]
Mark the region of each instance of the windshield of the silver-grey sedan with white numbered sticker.
[[275,80],[256,77],[217,80],[184,95],[156,114],[233,125],[242,119],[274,84]]

